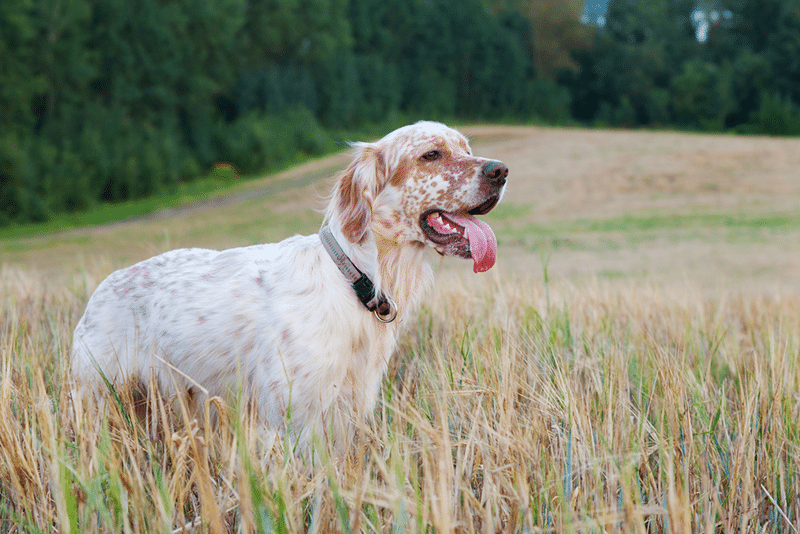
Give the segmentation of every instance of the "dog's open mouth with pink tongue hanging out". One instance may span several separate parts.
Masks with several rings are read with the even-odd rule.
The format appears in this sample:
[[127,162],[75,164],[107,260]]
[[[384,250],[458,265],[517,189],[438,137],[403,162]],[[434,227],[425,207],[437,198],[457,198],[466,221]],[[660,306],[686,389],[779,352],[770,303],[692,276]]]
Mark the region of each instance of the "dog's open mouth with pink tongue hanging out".
[[489,213],[499,200],[500,197],[491,197],[465,213],[429,210],[422,215],[420,226],[443,253],[472,258],[473,271],[482,273],[491,269],[497,259],[497,238],[492,228],[475,215]]

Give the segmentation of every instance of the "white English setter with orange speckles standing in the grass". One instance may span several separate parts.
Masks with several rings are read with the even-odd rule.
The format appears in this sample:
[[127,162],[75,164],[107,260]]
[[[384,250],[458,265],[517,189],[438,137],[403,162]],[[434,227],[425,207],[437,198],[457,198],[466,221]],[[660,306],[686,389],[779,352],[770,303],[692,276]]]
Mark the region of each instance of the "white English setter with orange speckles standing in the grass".
[[102,389],[101,375],[194,402],[241,391],[273,436],[347,441],[432,281],[426,247],[475,272],[494,265],[494,233],[475,216],[508,175],[435,122],[353,147],[320,235],[173,250],[106,278],[75,328],[76,393]]

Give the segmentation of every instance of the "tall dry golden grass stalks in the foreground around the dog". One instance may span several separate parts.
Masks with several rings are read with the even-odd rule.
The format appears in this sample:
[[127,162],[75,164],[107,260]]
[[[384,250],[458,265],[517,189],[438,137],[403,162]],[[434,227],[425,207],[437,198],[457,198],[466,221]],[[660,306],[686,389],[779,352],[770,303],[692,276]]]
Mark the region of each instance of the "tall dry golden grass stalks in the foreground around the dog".
[[124,390],[73,406],[71,331],[102,274],[0,270],[0,532],[800,523],[796,296],[440,284],[350,454],[304,461],[236,407],[210,425],[171,399],[137,417]]

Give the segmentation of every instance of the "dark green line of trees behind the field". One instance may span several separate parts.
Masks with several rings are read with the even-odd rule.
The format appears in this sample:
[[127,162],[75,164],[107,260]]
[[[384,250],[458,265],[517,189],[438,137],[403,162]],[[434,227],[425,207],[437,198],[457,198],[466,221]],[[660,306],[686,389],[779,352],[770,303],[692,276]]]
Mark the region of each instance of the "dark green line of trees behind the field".
[[[800,0],[0,3],[0,226],[394,118],[800,134]],[[700,35],[702,32],[702,35]]]

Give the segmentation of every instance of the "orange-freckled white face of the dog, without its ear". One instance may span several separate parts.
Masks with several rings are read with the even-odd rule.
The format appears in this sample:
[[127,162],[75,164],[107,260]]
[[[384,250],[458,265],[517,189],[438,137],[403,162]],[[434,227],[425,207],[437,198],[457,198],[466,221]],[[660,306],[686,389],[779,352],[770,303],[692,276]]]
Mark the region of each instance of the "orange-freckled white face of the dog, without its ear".
[[[427,244],[441,254],[474,257],[469,228],[473,234],[491,229],[473,215],[494,208],[505,179],[502,183],[487,179],[484,169],[492,160],[474,157],[467,140],[455,130],[442,126],[427,131],[426,126],[419,131],[414,126],[379,142],[389,176],[375,203],[379,233],[396,242]],[[476,244],[472,241],[473,249]]]

